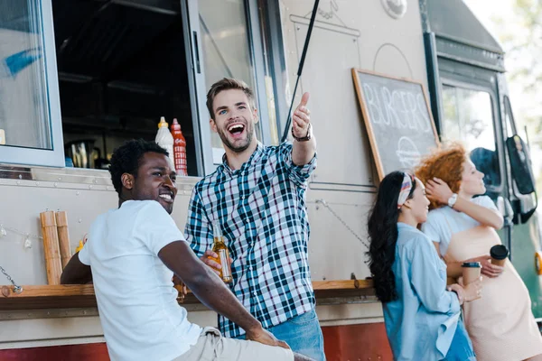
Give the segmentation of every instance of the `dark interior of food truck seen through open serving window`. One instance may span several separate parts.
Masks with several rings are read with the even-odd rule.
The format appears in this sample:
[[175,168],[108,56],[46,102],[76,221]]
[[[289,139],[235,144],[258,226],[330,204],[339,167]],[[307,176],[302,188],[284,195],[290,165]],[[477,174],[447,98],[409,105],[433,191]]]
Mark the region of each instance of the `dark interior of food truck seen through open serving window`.
[[153,140],[165,116],[182,125],[188,174],[198,174],[180,4],[52,1],[68,162],[107,169],[118,145]]

